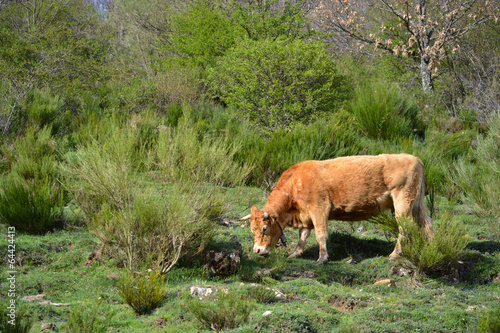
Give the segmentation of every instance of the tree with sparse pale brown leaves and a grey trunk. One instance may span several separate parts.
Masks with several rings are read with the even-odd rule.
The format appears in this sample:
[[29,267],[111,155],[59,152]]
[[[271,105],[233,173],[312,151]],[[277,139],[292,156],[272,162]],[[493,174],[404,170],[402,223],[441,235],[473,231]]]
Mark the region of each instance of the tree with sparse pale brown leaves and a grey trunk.
[[[437,66],[475,27],[498,20],[493,0],[374,0],[378,21],[368,22],[362,0],[322,0],[314,16],[324,25],[363,44],[374,45],[417,69],[424,91],[432,91]],[[373,15],[375,17],[375,15]]]

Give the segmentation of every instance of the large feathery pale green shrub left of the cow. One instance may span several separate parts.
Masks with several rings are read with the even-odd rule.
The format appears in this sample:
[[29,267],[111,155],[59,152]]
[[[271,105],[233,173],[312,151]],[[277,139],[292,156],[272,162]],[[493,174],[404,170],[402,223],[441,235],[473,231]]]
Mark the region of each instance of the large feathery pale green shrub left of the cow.
[[[185,118],[175,129],[164,127],[146,149],[155,164],[137,154],[141,132],[119,126],[70,161],[68,187],[89,229],[130,271],[152,265],[166,273],[183,256],[195,255],[223,211],[213,185],[239,184],[248,173],[232,161],[236,148],[227,138],[202,141]],[[141,164],[153,179],[138,176]]]

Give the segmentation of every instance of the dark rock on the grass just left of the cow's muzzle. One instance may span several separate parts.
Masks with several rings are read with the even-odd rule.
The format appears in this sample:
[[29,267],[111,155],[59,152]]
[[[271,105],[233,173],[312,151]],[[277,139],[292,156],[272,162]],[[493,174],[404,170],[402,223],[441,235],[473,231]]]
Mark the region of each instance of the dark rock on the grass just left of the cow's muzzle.
[[241,244],[231,242],[227,248],[211,249],[205,252],[203,264],[213,276],[227,277],[236,274],[241,266]]

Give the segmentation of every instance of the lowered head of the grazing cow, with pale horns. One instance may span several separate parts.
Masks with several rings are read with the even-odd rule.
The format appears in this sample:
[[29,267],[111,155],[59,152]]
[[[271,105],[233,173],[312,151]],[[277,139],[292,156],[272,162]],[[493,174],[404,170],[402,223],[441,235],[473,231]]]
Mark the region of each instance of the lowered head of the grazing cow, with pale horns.
[[254,235],[253,252],[266,255],[282,237],[282,229],[278,226],[278,214],[267,209],[252,207],[252,213],[240,220],[250,220],[250,229]]

